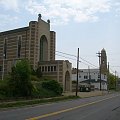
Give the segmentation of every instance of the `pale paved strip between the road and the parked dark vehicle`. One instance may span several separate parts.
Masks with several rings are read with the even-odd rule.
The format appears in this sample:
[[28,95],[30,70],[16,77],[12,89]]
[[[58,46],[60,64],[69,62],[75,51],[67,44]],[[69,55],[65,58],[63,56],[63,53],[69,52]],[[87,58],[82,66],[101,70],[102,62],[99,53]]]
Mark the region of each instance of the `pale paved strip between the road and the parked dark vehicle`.
[[[100,96],[100,95],[105,95],[105,94],[108,94],[108,91],[78,92],[78,96],[81,98]],[[65,92],[63,93],[63,95],[65,96],[76,95],[76,92]]]

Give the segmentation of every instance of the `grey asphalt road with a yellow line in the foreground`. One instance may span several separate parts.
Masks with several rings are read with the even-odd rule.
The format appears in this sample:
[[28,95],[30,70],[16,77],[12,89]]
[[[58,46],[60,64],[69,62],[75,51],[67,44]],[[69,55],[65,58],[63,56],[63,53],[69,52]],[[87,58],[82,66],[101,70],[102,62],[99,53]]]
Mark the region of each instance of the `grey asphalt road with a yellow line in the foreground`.
[[0,120],[120,120],[120,93],[0,110]]

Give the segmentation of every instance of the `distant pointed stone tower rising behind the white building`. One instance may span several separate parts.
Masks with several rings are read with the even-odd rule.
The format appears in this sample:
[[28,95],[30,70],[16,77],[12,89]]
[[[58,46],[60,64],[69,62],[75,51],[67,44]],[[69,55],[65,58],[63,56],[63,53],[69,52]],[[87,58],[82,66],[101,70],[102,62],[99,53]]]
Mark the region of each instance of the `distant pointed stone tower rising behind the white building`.
[[107,74],[107,55],[104,48],[101,50],[101,73]]

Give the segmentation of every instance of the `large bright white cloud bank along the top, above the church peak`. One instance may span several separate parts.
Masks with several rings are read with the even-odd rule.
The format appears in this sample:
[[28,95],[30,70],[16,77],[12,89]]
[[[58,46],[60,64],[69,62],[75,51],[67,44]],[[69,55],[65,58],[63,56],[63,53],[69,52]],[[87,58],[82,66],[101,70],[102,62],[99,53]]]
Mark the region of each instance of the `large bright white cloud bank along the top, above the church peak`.
[[41,13],[59,24],[97,21],[97,13],[106,13],[111,9],[111,0],[28,0],[26,10],[31,14]]

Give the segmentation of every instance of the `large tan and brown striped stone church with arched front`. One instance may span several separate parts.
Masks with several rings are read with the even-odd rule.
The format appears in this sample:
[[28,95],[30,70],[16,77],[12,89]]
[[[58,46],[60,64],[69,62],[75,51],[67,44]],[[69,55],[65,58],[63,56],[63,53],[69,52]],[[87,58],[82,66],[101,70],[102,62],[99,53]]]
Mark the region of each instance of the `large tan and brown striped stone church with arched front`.
[[38,21],[30,21],[27,27],[0,32],[0,79],[11,71],[17,60],[27,58],[34,69],[41,67],[43,76],[52,76],[64,91],[70,91],[71,63],[56,61],[55,48],[56,33],[50,31],[50,20],[45,22],[41,14]]

